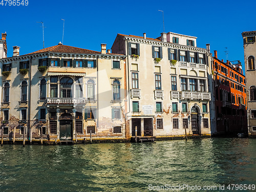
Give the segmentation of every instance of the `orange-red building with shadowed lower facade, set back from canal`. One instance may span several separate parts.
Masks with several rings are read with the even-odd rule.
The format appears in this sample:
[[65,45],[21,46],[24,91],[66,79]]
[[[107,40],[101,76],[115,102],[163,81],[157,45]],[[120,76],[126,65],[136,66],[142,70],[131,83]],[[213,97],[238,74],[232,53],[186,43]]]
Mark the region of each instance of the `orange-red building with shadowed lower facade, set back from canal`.
[[247,131],[246,86],[241,62],[218,59],[214,51],[212,69],[215,84],[217,130],[214,135]]

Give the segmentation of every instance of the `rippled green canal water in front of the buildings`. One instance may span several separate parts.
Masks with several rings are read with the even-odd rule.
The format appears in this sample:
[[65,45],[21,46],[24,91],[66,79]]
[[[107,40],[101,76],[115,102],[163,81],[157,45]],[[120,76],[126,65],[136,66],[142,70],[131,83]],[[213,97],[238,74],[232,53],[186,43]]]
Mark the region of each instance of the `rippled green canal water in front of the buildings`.
[[227,186],[255,185],[255,162],[256,139],[247,138],[4,145],[0,191],[153,191],[164,185],[169,191],[178,185],[190,187],[184,191],[197,191],[196,185],[253,191]]

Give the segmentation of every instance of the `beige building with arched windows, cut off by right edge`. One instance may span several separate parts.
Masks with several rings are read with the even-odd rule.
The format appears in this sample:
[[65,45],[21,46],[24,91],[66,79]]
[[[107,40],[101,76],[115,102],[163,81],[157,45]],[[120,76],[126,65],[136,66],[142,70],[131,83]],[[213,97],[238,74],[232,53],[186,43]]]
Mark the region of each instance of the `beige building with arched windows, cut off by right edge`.
[[256,137],[256,31],[246,31],[242,33],[244,42],[244,63],[246,76],[246,96],[247,96],[247,126],[248,135]]

